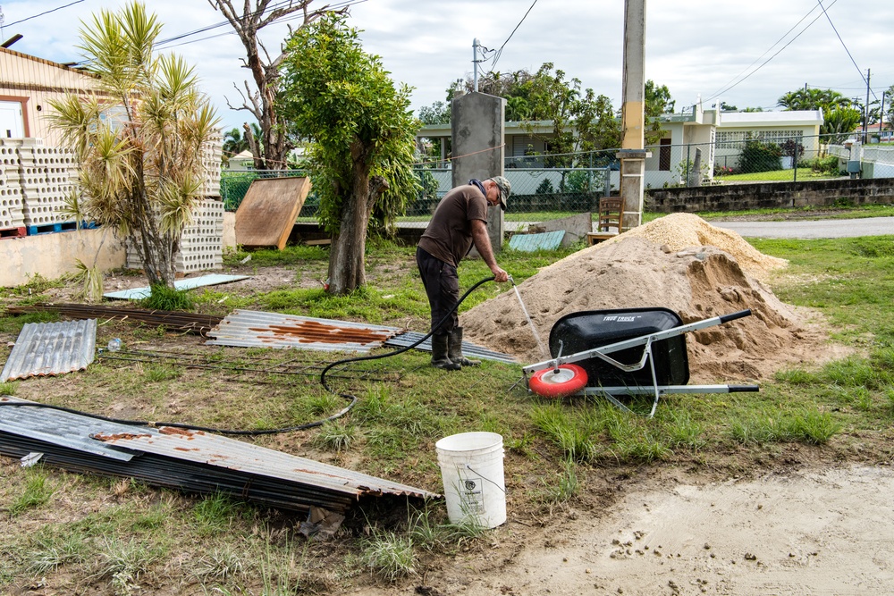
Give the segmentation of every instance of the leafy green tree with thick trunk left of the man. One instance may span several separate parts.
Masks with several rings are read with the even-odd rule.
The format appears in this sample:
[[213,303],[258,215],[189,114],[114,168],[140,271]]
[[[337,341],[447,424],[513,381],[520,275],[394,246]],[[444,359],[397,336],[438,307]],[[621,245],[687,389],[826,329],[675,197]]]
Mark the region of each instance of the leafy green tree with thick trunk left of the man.
[[395,88],[357,29],[327,14],[288,40],[278,105],[312,141],[309,149],[320,222],[333,235],[329,292],[366,281],[367,228],[378,207],[392,221],[415,197],[413,147],[418,121],[409,88]]

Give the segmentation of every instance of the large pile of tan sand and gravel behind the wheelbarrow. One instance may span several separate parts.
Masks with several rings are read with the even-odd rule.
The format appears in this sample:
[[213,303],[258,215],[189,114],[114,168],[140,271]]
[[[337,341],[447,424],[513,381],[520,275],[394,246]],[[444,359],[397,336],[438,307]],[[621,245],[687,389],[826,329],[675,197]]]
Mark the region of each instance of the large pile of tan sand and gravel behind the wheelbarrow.
[[[744,264],[741,264],[741,263]],[[687,334],[693,382],[756,380],[822,357],[823,334],[749,273],[785,261],[695,215],[663,217],[544,267],[519,295],[548,349],[552,324],[587,310],[662,306],[683,323],[750,308],[753,315]],[[547,359],[514,291],[460,316],[466,338],[531,364]]]

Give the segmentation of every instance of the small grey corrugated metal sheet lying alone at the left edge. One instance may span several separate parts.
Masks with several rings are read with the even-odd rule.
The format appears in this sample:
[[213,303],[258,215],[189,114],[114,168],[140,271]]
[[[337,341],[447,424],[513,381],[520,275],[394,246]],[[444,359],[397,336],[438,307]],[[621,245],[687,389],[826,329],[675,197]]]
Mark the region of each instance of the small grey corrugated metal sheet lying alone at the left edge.
[[72,373],[96,356],[97,320],[25,323],[0,374],[0,382]]

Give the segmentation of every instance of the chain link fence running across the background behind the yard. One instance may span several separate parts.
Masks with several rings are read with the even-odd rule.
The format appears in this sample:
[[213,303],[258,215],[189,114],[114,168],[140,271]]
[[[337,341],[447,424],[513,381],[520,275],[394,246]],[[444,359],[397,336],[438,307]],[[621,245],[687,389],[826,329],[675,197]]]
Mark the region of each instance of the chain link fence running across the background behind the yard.
[[[645,189],[755,182],[822,180],[843,176],[894,177],[894,146],[839,144],[841,135],[804,136],[788,131],[718,133],[713,142],[646,147]],[[617,149],[569,155],[507,157],[503,175],[512,184],[507,216],[595,212],[599,199],[620,190]],[[426,218],[452,188],[452,171],[430,164],[414,167],[421,187],[405,216]],[[301,170],[223,171],[221,196],[235,211],[252,180],[306,176]],[[314,218],[319,199],[313,189],[299,218]]]

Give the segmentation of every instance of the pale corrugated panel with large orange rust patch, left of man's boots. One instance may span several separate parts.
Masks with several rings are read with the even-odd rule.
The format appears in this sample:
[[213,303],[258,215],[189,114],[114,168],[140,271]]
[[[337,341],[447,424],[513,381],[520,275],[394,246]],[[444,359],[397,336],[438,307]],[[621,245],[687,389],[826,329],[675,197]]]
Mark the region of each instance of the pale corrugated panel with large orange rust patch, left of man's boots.
[[213,346],[367,352],[400,329],[299,315],[236,310],[208,332]]

